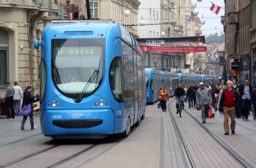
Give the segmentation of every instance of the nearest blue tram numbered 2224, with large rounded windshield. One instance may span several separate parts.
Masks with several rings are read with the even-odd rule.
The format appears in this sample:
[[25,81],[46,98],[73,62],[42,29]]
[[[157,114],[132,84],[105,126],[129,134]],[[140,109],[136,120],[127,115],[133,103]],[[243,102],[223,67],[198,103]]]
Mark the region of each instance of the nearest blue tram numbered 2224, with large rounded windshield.
[[49,24],[42,32],[40,124],[53,138],[127,136],[145,115],[144,57],[118,23]]

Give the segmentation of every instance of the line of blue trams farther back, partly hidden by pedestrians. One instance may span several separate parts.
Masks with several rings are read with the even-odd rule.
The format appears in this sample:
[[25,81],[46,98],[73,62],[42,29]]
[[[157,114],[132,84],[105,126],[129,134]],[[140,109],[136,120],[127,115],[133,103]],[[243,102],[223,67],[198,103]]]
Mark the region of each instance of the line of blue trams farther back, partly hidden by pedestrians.
[[146,68],[146,102],[152,104],[158,101],[157,95],[161,86],[165,86],[166,90],[173,95],[175,87],[178,83],[186,85],[198,85],[200,82],[217,85],[219,77],[216,75],[204,75],[195,73],[170,73],[166,71],[158,71],[156,69]]

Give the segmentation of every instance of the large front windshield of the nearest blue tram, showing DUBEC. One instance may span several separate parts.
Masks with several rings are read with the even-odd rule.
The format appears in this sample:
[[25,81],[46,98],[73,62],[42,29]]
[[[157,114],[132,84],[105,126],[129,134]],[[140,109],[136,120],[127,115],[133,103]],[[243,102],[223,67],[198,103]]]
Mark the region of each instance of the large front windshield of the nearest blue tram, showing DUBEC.
[[53,82],[59,91],[72,98],[84,92],[87,97],[102,81],[104,39],[53,40],[51,58]]

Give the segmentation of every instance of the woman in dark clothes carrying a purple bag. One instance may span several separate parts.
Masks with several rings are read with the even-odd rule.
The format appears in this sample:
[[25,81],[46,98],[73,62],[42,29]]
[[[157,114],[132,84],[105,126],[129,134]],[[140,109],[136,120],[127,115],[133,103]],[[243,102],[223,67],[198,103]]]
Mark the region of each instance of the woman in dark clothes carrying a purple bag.
[[[26,90],[23,93],[23,102],[22,102],[22,110],[24,106],[28,106],[30,105],[30,114],[28,114],[28,116],[30,116],[30,125],[31,125],[31,130],[34,129],[34,118],[33,118],[33,100],[34,100],[34,96],[32,96],[32,87],[28,86],[26,88]],[[22,110],[21,110],[21,115],[22,115]],[[22,126],[20,127],[21,130],[25,130],[24,125],[25,122],[28,118],[28,116],[23,116],[23,120],[22,120]]]

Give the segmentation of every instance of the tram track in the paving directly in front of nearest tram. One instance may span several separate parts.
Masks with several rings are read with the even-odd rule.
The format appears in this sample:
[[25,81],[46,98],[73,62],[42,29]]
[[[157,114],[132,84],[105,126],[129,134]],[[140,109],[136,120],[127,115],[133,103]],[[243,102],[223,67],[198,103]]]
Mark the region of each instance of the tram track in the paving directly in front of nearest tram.
[[[40,165],[43,167],[60,167],[62,165],[73,164],[83,165],[84,163],[91,161],[97,156],[102,155],[102,153],[105,153],[109,149],[112,149],[122,141],[123,139],[115,137],[106,138],[104,140],[96,140],[96,143],[93,143],[91,140],[57,140],[57,144],[54,144],[53,146],[48,146],[34,153],[29,153],[23,157],[19,157],[7,163],[3,163],[0,165],[0,168],[16,166],[30,167],[35,164],[39,167]],[[20,150],[18,149],[18,151]],[[64,153],[65,155],[57,156],[56,154],[58,153]],[[82,163],[79,163],[79,157],[84,158],[82,159]],[[38,158],[44,158],[44,163],[38,163]],[[45,163],[47,164],[45,165]]]

